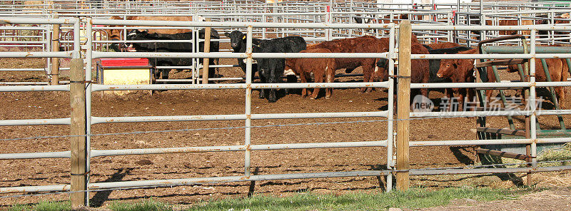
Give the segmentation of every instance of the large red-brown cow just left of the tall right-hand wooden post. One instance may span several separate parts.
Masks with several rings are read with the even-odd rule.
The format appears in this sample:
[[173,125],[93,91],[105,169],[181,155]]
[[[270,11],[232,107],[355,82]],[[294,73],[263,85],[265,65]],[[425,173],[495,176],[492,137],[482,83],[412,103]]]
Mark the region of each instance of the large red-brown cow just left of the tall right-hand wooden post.
[[[325,48],[333,53],[380,53],[383,42],[374,36],[344,38],[334,41],[324,41],[307,46],[307,50]],[[375,58],[335,58],[335,68],[347,68],[350,71],[358,66],[363,67],[363,82],[373,82]],[[349,71],[349,72],[350,72]],[[360,92],[370,92],[373,88],[360,88]]]

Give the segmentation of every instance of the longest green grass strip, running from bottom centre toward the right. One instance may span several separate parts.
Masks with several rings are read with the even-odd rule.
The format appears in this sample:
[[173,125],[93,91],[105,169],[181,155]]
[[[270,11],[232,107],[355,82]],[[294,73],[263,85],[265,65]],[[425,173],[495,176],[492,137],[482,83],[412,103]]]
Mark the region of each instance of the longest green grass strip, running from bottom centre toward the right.
[[249,198],[204,202],[193,210],[386,210],[389,207],[416,209],[448,205],[450,200],[477,201],[514,198],[533,189],[445,188],[428,191],[411,189],[406,192],[358,192],[347,195],[323,195],[300,192],[291,197],[255,195]]

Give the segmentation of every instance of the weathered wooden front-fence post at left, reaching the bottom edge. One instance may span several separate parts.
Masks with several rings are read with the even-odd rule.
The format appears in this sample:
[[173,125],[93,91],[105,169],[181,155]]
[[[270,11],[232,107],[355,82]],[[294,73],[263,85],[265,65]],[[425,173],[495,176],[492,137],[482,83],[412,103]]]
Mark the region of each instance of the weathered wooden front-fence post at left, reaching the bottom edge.
[[[71,207],[85,206],[87,201],[86,93],[84,60],[71,59],[69,76],[71,103]],[[78,192],[75,192],[78,191]]]

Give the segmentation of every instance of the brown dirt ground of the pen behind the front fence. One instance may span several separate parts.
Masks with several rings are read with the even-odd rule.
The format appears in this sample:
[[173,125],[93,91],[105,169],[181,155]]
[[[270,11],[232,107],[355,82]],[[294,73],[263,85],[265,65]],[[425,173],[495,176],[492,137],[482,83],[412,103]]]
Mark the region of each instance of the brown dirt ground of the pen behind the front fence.
[[[37,67],[37,59],[0,60],[2,67]],[[234,59],[222,59],[221,63],[236,63]],[[359,69],[356,70],[359,72]],[[223,76],[243,76],[239,68],[221,68]],[[343,73],[343,70],[338,70]],[[63,78],[68,72],[62,73]],[[187,78],[186,72],[172,73],[173,78]],[[508,76],[502,73],[502,76]],[[517,76],[509,75],[517,78]],[[502,78],[503,79],[503,78]],[[336,81],[355,81],[360,77],[336,78]],[[46,81],[44,73],[0,72],[0,81]],[[225,83],[236,83],[225,82]],[[253,92],[252,113],[298,112],[348,112],[378,111],[387,109],[387,93],[357,93],[354,88],[335,89],[333,98],[310,100],[299,93],[281,94],[277,103],[256,98]],[[510,93],[512,94],[512,93]],[[100,97],[95,93],[92,101],[94,116],[138,115],[208,115],[240,114],[244,112],[243,90],[163,91],[148,95],[134,93],[122,97]],[[430,98],[443,97],[431,92]],[[567,102],[565,102],[567,103]],[[24,92],[0,93],[0,119],[67,118],[69,117],[69,93]],[[329,118],[294,120],[253,120],[253,125],[292,123],[318,123],[354,120],[380,120],[382,118]],[[518,128],[523,118],[515,118]],[[540,117],[543,128],[555,128],[555,117]],[[507,127],[505,118],[488,118],[494,128]],[[565,117],[566,123],[571,123]],[[223,128],[243,126],[242,120],[168,122],[168,123],[106,123],[92,127],[93,134],[124,133],[133,131],[181,130],[192,128]],[[413,120],[410,123],[410,140],[473,140],[475,118],[445,118]],[[35,136],[69,135],[67,125],[10,126],[0,128],[0,139]],[[387,135],[387,123],[337,123],[328,125],[296,125],[252,129],[252,144],[276,143],[325,143],[347,141],[383,140]],[[190,132],[142,133],[136,135],[94,136],[91,148],[97,150],[132,148],[173,148],[208,145],[241,145],[243,129],[199,130]],[[41,138],[34,140],[0,140],[1,153],[33,153],[69,150],[67,138]],[[472,146],[416,147],[410,149],[412,168],[440,168],[470,165],[474,163]],[[263,150],[251,155],[252,170],[257,175],[285,173],[316,173],[328,171],[383,170],[386,166],[385,148],[328,148],[307,150]],[[244,154],[241,152],[184,153],[164,155],[126,155],[91,159],[91,182],[116,182],[130,180],[161,180],[190,177],[217,177],[243,175]],[[68,159],[0,160],[2,171],[0,187],[27,185],[69,184]],[[522,175],[517,175],[521,177]],[[289,195],[293,192],[312,190],[343,194],[353,191],[377,190],[384,186],[379,177],[343,177],[308,180],[274,180],[191,185],[181,187],[116,190],[91,193],[91,206],[101,207],[111,200],[138,200],[153,197],[156,200],[178,205],[191,205],[203,200],[227,197],[243,197],[248,192]],[[535,182],[542,182],[535,178]],[[415,176],[414,186],[427,188],[491,186],[506,187],[512,181],[502,181],[496,175],[442,175]],[[567,192],[569,190],[566,190]],[[37,202],[39,200],[65,200],[68,195],[41,197],[1,198],[0,205]],[[480,206],[480,205],[478,205]]]

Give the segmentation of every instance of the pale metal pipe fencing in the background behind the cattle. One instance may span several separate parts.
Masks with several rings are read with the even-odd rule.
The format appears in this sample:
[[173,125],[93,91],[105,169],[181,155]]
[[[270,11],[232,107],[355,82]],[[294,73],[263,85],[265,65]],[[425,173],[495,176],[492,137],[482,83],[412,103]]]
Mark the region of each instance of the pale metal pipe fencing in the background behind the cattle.
[[[8,2],[8,1],[7,1]],[[47,1],[45,4],[37,4],[37,5],[30,5],[24,4],[12,4],[13,1],[9,1],[10,4],[1,4],[0,1],[0,15],[2,12],[19,12],[19,13],[31,13],[29,15],[35,16],[45,16],[49,17],[51,14],[59,13],[60,16],[76,16],[77,14],[81,14],[81,16],[97,16],[107,18],[109,16],[181,16],[181,15],[191,15],[191,16],[203,16],[211,18],[213,21],[278,21],[278,22],[301,22],[301,23],[323,23],[329,21],[327,16],[330,16],[330,22],[332,23],[351,23],[353,22],[353,17],[362,17],[362,18],[370,18],[373,19],[376,23],[381,23],[383,21],[400,21],[401,19],[395,17],[395,15],[405,14],[407,16],[411,16],[413,18],[413,23],[432,23],[432,24],[446,24],[450,26],[463,26],[467,25],[470,26],[470,19],[469,16],[477,16],[477,19],[480,19],[480,16],[484,16],[485,19],[492,19],[494,20],[494,24],[498,24],[499,19],[517,19],[517,20],[525,20],[525,19],[532,19],[532,20],[544,20],[544,21],[551,21],[548,24],[552,24],[552,21],[561,20],[565,21],[568,19],[557,19],[555,16],[560,13],[565,13],[571,11],[571,8],[562,7],[552,9],[552,10],[545,10],[548,7],[545,6],[537,6],[537,5],[548,5],[548,4],[536,4],[530,2],[515,2],[512,4],[483,4],[483,11],[479,11],[479,5],[477,4],[442,4],[442,5],[423,5],[418,4],[415,7],[408,5],[408,4],[376,4],[376,3],[355,3],[355,2],[345,2],[345,3],[335,3],[330,5],[329,2],[315,2],[315,3],[295,3],[295,2],[282,2],[276,5],[272,4],[263,4],[263,3],[253,3],[248,1],[248,4],[254,4],[256,6],[252,7],[250,5],[249,9],[239,9],[246,7],[246,5],[242,2],[200,2],[200,1],[169,1],[169,2],[140,2],[140,3],[133,3],[133,2],[121,2],[121,1],[83,1],[83,4],[63,4],[64,1],[54,1],[54,4],[48,4]],[[105,5],[106,9],[101,9],[101,5]],[[151,6],[152,5],[152,6]],[[124,6],[121,9],[121,6]],[[146,7],[147,6],[147,7]],[[325,9],[327,6],[330,7],[330,11]],[[527,6],[527,7],[525,7]],[[458,8],[459,7],[459,8]],[[477,9],[470,9],[470,7],[477,7]],[[26,10],[32,9],[33,11],[44,10],[39,13],[31,12]],[[62,9],[64,8],[64,9]],[[252,9],[255,8],[255,9]],[[419,9],[420,8],[420,9]],[[425,9],[423,9],[425,8]],[[430,9],[427,9],[430,8]],[[439,9],[440,8],[440,9]],[[455,8],[456,14],[458,14],[458,20],[452,16],[450,12],[450,8]],[[526,11],[522,8],[532,9],[534,11]],[[4,10],[3,10],[4,9]],[[58,10],[59,9],[59,10]],[[75,9],[75,10],[74,10]],[[153,12],[149,9],[156,9],[156,11],[161,12]],[[398,9],[400,11],[394,11]],[[460,10],[464,9],[464,10]],[[169,11],[168,13],[166,11]],[[171,12],[176,11],[176,12]],[[530,14],[546,14],[545,17],[532,17],[526,16]],[[16,14],[12,14],[11,16],[16,16]],[[390,18],[385,18],[385,16],[390,16]],[[429,21],[425,20],[415,20],[414,17],[428,17],[428,16],[441,16],[438,18],[438,21],[433,21],[433,19],[429,19]],[[96,27],[97,28],[97,27]],[[133,27],[134,28],[134,27]],[[62,35],[65,31],[69,31],[70,28],[62,27]],[[100,29],[100,28],[98,28]],[[102,29],[102,28],[101,28]],[[124,29],[131,29],[131,28],[124,28]],[[166,28],[165,28],[166,29]],[[171,28],[175,29],[175,28]],[[258,28],[256,28],[258,29]],[[263,30],[254,30],[257,36],[261,36],[266,38],[266,34],[276,34],[277,36],[288,36],[288,35],[300,35],[300,36],[308,36],[313,37],[310,38],[310,41],[323,41],[323,40],[332,40],[336,38],[346,38],[346,37],[353,37],[353,36],[360,36],[364,34],[369,34],[373,36],[387,36],[386,30],[375,30],[374,33],[366,32],[366,31],[356,31],[357,29],[330,29],[332,31],[327,32],[323,29],[318,29],[318,31],[309,31],[309,30],[300,30],[300,29],[283,29],[283,28],[276,28],[276,31],[266,31],[266,28]],[[9,29],[6,29],[9,30]],[[4,30],[4,31],[6,31]],[[22,28],[21,30],[24,30]],[[48,31],[49,29],[44,29],[44,31]],[[29,47],[31,44],[38,44],[39,47],[43,48],[43,51],[49,50],[49,37],[48,34],[44,34],[41,36],[44,38],[44,41],[16,41],[11,42],[10,45],[2,45],[2,43],[9,43],[3,42],[2,34],[0,30],[0,46],[6,47]],[[471,43],[477,42],[481,40],[480,35],[470,34],[468,33],[458,33],[453,34],[452,31],[415,31],[420,34],[425,34],[425,36],[420,36],[419,38],[423,41],[428,41],[429,43],[435,41],[462,41],[466,43],[468,46],[471,46]],[[330,36],[325,36],[323,38],[323,34],[328,33]],[[494,34],[487,35],[487,37],[497,36],[497,32]],[[65,36],[62,36],[65,38]],[[543,38],[537,39],[537,41],[541,41],[542,43],[569,43],[568,41],[571,40],[571,35],[569,33],[550,33],[547,35],[542,35]],[[4,39],[10,38],[10,36],[5,35]],[[38,37],[40,38],[40,37]],[[222,39],[221,41],[226,42],[226,39]],[[71,41],[66,41],[65,39],[61,41],[64,43],[64,48],[66,48],[66,43],[70,43]],[[94,41],[96,43],[101,43],[100,46],[96,48],[107,48],[110,43],[114,43],[113,41]],[[123,42],[126,40],[123,38]],[[538,42],[539,43],[539,42]],[[14,45],[19,44],[19,45]],[[49,66],[51,63],[48,63],[46,66],[46,73],[49,74]],[[220,67],[220,66],[214,66]],[[199,68],[199,67],[198,67]],[[224,78],[214,78],[213,80],[224,80]]]

